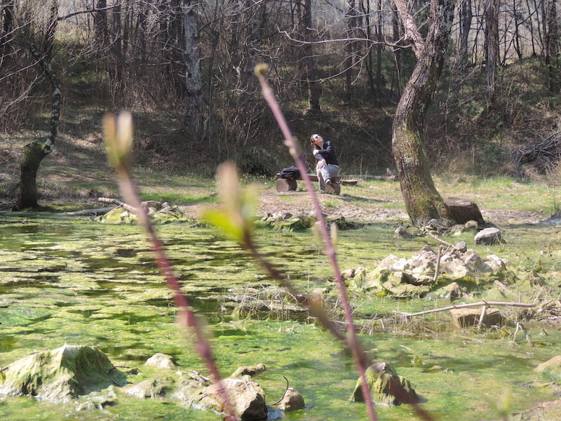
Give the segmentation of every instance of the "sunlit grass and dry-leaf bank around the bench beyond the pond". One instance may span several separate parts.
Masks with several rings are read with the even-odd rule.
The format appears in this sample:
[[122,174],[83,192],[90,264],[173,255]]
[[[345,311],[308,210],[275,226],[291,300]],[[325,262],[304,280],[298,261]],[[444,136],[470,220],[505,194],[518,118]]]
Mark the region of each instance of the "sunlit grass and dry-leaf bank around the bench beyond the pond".
[[[55,151],[44,159],[37,176],[40,203],[53,210],[100,207],[97,197],[118,197],[113,171],[104,157],[102,138],[93,132],[76,138],[74,129],[62,131]],[[30,133],[15,135],[0,147],[0,208],[13,204],[11,190],[18,182],[22,149]],[[356,186],[342,186],[342,194],[322,194],[325,213],[349,220],[377,222],[391,220],[407,224],[400,185],[397,181],[376,180],[370,174],[345,174],[358,178]],[[181,170],[166,171],[158,166],[137,166],[134,177],[144,199],[169,201],[183,206],[194,218],[201,208],[217,203],[215,180]],[[444,197],[461,197],[478,203],[485,220],[496,225],[532,224],[546,220],[559,208],[560,188],[553,182],[495,176],[478,178],[460,173],[434,175]],[[243,183],[259,186],[259,215],[311,212],[311,201],[299,182],[297,192],[277,193],[272,178],[242,176]],[[317,183],[315,184],[317,189]]]

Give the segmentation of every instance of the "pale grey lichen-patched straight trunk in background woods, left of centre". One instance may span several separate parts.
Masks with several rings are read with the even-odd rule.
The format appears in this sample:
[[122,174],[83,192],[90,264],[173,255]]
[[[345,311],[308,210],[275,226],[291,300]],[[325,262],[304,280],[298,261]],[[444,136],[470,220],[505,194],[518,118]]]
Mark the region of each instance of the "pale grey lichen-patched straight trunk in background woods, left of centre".
[[181,1],[185,128],[194,140],[200,139],[203,132],[203,81],[199,62],[198,22],[194,10],[196,5],[192,0]]

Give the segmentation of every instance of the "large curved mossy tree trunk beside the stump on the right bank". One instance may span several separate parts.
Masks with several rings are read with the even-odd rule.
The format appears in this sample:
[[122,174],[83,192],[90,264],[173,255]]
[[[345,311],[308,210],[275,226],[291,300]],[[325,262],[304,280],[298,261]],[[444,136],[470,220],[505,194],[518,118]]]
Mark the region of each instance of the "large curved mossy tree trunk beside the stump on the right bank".
[[414,46],[417,65],[403,90],[393,119],[393,156],[396,159],[405,208],[414,225],[435,218],[445,225],[453,220],[437,192],[424,145],[426,111],[442,73],[447,42],[454,18],[454,0],[433,0],[431,26],[426,39],[407,11],[405,0],[396,0],[405,34]]

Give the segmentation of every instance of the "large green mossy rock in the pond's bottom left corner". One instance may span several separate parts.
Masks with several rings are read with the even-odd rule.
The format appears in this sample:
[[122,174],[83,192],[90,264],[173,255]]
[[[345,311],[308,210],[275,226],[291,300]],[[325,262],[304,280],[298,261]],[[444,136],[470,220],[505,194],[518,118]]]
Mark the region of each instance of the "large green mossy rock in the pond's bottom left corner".
[[58,402],[127,382],[126,375],[99,349],[66,344],[14,361],[4,374],[0,394],[31,395]]

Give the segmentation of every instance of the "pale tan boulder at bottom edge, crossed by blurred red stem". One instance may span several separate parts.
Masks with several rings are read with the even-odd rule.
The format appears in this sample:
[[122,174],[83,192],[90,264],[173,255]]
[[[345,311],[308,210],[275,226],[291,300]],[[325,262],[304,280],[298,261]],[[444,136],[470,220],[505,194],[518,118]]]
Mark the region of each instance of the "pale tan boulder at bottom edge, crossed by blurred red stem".
[[[255,380],[252,380],[248,375],[244,375],[241,379],[223,379],[222,384],[228,394],[230,404],[234,408],[236,417],[248,421],[266,420],[265,392]],[[222,412],[224,406],[217,383],[205,387],[196,396],[196,399],[191,401],[191,406]]]

